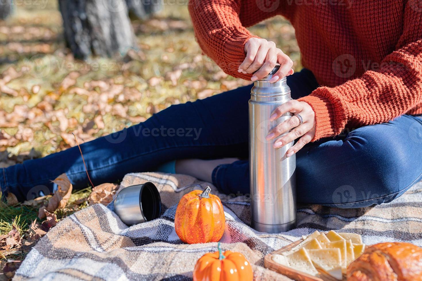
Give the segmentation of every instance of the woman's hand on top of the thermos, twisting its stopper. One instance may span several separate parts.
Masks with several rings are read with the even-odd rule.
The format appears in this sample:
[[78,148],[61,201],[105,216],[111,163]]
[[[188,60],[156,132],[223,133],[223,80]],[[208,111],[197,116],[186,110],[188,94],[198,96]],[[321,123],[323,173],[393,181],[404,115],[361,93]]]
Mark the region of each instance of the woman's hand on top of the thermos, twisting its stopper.
[[268,75],[273,70],[276,63],[280,64],[280,69],[273,75],[270,83],[279,81],[284,76],[293,74],[293,62],[276,47],[276,43],[262,38],[250,38],[245,44],[246,58],[239,65],[238,72],[254,73],[251,80],[259,80]]

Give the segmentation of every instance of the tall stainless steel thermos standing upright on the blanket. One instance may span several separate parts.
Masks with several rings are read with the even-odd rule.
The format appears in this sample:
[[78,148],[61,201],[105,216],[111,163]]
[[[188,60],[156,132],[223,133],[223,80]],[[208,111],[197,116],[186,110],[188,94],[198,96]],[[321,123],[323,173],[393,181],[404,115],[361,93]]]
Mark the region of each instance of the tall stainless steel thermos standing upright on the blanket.
[[279,67],[254,82],[249,100],[251,224],[267,233],[284,232],[296,224],[296,155],[286,157],[293,142],[275,149],[273,143],[278,138],[265,139],[271,128],[292,116],[287,112],[270,122],[271,112],[292,99],[286,78],[268,82]]

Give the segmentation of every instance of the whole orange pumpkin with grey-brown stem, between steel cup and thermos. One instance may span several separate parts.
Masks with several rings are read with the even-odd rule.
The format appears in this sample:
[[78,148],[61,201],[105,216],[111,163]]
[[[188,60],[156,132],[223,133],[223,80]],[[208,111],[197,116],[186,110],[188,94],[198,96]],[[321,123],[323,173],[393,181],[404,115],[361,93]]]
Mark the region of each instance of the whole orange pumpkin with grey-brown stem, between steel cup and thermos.
[[180,199],[174,227],[181,241],[188,244],[217,242],[223,236],[226,223],[223,205],[210,191],[207,186],[203,192],[194,190]]

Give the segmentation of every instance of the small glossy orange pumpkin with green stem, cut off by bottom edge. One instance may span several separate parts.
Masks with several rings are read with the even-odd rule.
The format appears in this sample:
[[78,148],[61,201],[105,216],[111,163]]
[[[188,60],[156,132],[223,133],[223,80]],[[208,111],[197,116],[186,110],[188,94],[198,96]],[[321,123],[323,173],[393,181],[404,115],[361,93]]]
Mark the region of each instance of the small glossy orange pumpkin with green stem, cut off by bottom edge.
[[254,274],[243,254],[226,251],[222,253],[220,242],[218,251],[204,254],[196,262],[193,270],[194,281],[250,281]]

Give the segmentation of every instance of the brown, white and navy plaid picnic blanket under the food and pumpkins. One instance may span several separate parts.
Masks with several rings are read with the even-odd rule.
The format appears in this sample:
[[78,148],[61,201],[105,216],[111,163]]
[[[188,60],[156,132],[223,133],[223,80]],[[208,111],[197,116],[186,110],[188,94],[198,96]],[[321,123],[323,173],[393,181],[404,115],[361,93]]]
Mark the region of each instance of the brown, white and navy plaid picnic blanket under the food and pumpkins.
[[[128,174],[122,186],[153,182],[163,203],[159,219],[128,227],[108,207],[90,206],[60,221],[31,250],[14,280],[190,280],[196,260],[216,243],[184,244],[174,230],[179,199],[208,183],[179,174]],[[211,193],[218,194],[211,186]],[[241,252],[256,280],[290,280],[263,267],[263,258],[315,230],[362,235],[366,244],[408,241],[422,246],[422,182],[395,201],[362,209],[298,206],[298,227],[287,233],[259,233],[248,226],[245,197],[221,195],[226,228],[222,249]]]

